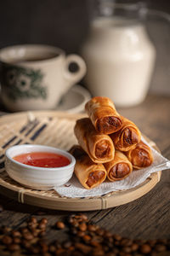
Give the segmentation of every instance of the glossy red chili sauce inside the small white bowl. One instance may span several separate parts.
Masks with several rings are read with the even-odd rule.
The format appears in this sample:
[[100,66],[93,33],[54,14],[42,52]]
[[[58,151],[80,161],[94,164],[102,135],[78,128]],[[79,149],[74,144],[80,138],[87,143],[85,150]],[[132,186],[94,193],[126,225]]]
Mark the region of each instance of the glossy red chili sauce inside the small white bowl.
[[71,163],[71,161],[68,160],[68,158],[66,158],[64,155],[48,152],[19,154],[14,156],[14,160],[28,166],[46,168],[68,166]]

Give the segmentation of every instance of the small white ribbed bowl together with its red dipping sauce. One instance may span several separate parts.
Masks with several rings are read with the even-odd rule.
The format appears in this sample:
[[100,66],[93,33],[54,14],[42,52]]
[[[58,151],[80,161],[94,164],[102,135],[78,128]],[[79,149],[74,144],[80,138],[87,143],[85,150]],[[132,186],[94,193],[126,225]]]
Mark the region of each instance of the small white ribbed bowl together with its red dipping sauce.
[[76,164],[67,151],[43,145],[13,146],[5,156],[8,176],[31,189],[54,189],[67,183]]

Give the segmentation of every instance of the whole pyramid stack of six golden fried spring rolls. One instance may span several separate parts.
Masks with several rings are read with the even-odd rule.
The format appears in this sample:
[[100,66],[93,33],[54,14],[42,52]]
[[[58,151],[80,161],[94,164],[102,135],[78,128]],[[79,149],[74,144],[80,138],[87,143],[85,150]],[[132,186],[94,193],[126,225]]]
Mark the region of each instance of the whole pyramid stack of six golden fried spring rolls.
[[151,165],[153,156],[141,141],[139,128],[117,113],[109,98],[94,97],[85,110],[88,118],[78,119],[74,129],[79,145],[70,149],[84,188],[93,189],[106,177],[111,182],[122,180],[133,170]]

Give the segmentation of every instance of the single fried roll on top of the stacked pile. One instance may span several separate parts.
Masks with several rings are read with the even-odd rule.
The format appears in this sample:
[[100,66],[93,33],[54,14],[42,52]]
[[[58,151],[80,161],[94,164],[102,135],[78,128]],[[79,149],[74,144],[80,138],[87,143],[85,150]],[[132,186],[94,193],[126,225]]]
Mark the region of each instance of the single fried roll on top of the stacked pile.
[[85,105],[86,112],[96,131],[111,134],[122,127],[122,119],[116,108],[107,97],[94,97]]

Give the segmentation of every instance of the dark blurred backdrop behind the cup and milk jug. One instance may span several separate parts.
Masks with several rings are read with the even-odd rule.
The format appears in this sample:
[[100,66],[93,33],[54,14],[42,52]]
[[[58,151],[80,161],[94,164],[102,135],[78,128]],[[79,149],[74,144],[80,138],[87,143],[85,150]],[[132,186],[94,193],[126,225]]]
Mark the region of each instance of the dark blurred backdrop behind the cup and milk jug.
[[[0,48],[13,44],[50,44],[69,53],[80,53],[88,37],[92,6],[99,0],[0,1]],[[113,0],[114,1],[114,0]],[[136,3],[135,0],[117,0]],[[143,0],[150,9],[170,14],[170,1]],[[151,24],[150,24],[151,23]],[[166,20],[147,21],[156,46],[156,68],[150,90],[170,95],[170,26]],[[161,86],[160,86],[161,84]]]

